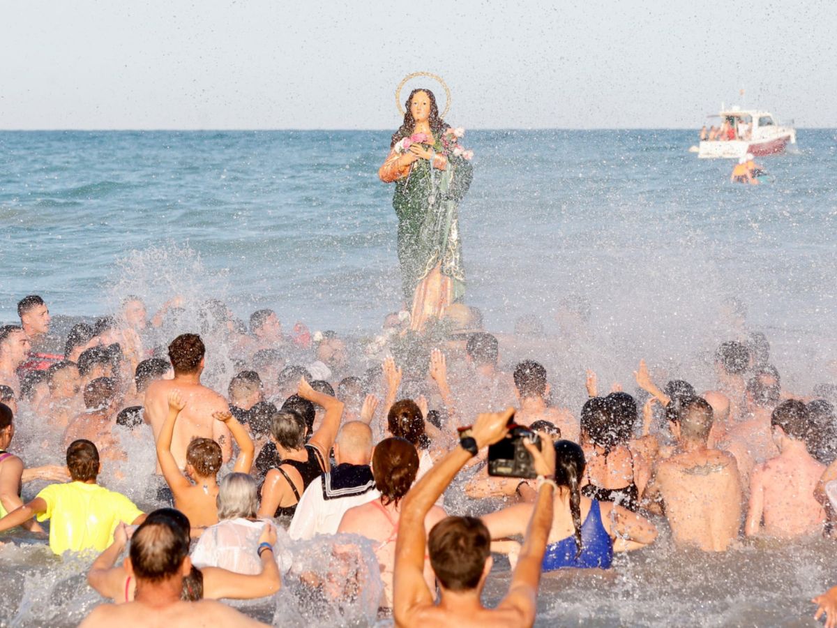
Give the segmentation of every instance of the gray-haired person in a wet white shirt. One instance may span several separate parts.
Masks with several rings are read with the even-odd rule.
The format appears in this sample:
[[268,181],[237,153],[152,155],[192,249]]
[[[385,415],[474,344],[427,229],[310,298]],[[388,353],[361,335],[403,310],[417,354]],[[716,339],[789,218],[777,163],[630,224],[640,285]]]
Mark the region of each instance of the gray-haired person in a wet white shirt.
[[[274,526],[270,519],[259,520],[259,492],[255,480],[246,473],[230,473],[218,485],[218,523],[201,535],[192,553],[192,564],[198,569],[220,567],[237,574],[259,574],[259,536],[264,524]],[[290,568],[290,559],[274,555],[280,569]],[[284,567],[284,569],[283,569]]]

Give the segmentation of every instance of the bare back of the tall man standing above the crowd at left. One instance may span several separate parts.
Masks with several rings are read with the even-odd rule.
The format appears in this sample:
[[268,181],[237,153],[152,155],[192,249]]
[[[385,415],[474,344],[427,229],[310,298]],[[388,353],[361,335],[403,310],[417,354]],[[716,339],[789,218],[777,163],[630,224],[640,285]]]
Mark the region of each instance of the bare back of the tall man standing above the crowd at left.
[[[172,437],[172,456],[181,469],[186,466],[186,448],[193,438],[211,438],[221,445],[223,461],[229,461],[233,453],[232,437],[226,425],[213,419],[215,412],[229,412],[226,399],[201,383],[190,381],[190,377],[158,379],[151,382],[146,391],[145,415],[154,431],[154,440],[160,435],[162,424],[168,412],[168,394],[180,391],[186,408],[177,418]],[[157,472],[160,466],[157,465]]]

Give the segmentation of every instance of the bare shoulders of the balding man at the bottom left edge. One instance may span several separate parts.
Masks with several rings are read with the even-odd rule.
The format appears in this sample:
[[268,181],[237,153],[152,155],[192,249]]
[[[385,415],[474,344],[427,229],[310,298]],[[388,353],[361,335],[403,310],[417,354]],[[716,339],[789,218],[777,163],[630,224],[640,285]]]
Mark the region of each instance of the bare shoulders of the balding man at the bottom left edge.
[[260,626],[256,620],[242,615],[214,600],[177,601],[164,607],[133,601],[127,604],[105,604],[96,608],[82,623],[85,628],[193,628],[195,626]]

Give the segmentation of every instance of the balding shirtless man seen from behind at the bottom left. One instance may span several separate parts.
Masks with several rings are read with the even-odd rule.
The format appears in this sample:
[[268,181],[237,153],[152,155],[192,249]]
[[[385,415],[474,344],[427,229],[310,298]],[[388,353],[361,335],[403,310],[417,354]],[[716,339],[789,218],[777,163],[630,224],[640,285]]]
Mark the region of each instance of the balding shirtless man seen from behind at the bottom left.
[[174,522],[157,517],[142,523],[131,538],[131,549],[125,559],[128,576],[136,580],[134,600],[100,605],[81,625],[85,628],[264,625],[214,600],[181,600],[183,578],[192,569],[188,554],[189,536]]

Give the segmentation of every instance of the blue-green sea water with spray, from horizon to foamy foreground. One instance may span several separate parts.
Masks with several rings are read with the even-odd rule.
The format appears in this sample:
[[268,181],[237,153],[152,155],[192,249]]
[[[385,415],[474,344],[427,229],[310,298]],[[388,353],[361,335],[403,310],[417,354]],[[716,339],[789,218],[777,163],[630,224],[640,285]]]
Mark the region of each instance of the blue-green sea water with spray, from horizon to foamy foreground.
[[[558,400],[576,411],[588,367],[629,384],[644,357],[660,378],[710,385],[711,351],[735,332],[731,297],[747,328],[767,333],[788,389],[837,379],[837,131],[798,131],[795,150],[757,160],[770,178],[754,187],[729,183],[732,162],[687,152],[695,140],[465,136],[475,151],[460,206],[466,299],[491,331],[541,318]],[[183,294],[222,298],[244,320],[272,307],[286,327],[374,331],[402,306],[393,186],[377,178],[388,145],[388,131],[0,132],[0,320],[30,293],[72,316],[114,311],[131,293],[150,310]],[[572,358],[554,351],[572,344],[555,320],[566,296],[592,312]],[[809,599],[837,582],[823,540],[711,556],[673,548],[660,528],[613,574],[547,576],[538,623],[809,625]],[[74,623],[97,600],[78,564],[38,544],[7,543],[0,566],[3,625]],[[508,582],[507,565],[496,569],[490,602]],[[288,600],[275,602],[275,620],[316,623]],[[341,612],[324,623],[363,623]]]

